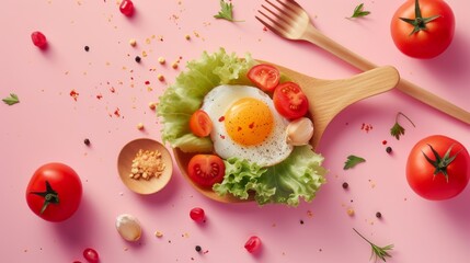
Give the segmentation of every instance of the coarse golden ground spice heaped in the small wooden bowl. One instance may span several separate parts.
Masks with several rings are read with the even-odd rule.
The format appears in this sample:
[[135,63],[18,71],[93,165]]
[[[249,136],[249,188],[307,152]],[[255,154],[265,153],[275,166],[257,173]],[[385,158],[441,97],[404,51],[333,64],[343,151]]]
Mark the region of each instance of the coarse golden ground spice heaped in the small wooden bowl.
[[163,173],[164,168],[160,151],[140,149],[133,160],[129,178],[135,180],[158,179]]

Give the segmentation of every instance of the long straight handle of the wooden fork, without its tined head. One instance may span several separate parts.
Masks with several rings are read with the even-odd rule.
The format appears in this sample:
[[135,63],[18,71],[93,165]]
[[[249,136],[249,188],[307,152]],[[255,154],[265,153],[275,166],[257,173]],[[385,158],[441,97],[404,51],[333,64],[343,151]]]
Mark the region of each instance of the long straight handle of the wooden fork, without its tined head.
[[[303,39],[319,46],[320,48],[333,54],[334,56],[341,58],[342,60],[363,71],[377,68],[377,65],[345,48],[344,46],[325,36],[314,27],[310,28],[308,33],[305,34]],[[437,96],[420,88],[416,84],[413,84],[405,79],[400,79],[397,89],[436,110],[439,110],[440,112],[448,114],[449,116],[452,116],[463,123],[470,124],[469,112],[442,99],[440,96]]]

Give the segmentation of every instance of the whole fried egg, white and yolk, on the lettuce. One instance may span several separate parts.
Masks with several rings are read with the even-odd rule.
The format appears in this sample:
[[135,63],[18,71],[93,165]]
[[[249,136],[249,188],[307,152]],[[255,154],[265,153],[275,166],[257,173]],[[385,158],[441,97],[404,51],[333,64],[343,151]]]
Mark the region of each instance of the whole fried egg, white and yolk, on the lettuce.
[[288,121],[257,88],[216,87],[204,98],[202,110],[213,121],[210,138],[214,150],[222,159],[238,157],[270,167],[293,151],[285,139]]

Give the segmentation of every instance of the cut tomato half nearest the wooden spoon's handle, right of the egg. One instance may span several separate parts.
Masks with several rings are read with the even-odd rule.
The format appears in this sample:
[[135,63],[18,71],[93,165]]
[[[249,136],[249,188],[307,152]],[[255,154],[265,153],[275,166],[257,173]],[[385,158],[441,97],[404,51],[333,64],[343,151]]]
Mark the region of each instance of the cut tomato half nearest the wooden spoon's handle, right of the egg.
[[273,101],[277,112],[289,119],[302,117],[309,110],[306,94],[298,84],[290,81],[276,88]]

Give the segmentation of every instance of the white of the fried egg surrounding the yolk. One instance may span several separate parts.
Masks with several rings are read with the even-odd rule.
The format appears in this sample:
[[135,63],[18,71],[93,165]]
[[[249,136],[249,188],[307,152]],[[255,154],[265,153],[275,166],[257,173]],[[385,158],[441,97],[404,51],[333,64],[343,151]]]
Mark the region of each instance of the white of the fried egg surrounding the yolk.
[[[243,98],[253,98],[264,102],[273,114],[272,133],[263,142],[255,146],[243,146],[233,141],[226,130],[223,119],[220,119],[232,103]],[[238,157],[262,167],[270,167],[285,160],[294,149],[286,141],[288,121],[277,113],[273,100],[257,88],[248,85],[216,87],[205,96],[202,110],[209,115],[213,122],[214,128],[210,138],[214,142],[214,150],[222,159]]]

